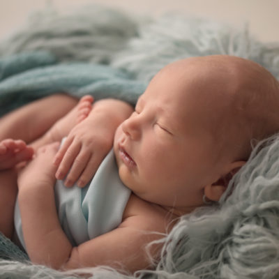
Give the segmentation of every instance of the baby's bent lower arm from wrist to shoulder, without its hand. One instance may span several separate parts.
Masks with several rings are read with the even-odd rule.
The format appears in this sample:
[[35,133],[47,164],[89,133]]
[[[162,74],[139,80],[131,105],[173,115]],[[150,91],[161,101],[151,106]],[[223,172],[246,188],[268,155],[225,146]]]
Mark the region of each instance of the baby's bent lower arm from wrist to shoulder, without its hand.
[[[19,202],[24,241],[33,263],[63,270],[109,265],[133,272],[153,267],[144,248],[162,237],[149,232],[164,232],[165,222],[149,209],[125,218],[111,232],[73,248],[57,218],[53,186],[29,185],[20,192]],[[151,255],[156,256],[160,248],[152,246]]]

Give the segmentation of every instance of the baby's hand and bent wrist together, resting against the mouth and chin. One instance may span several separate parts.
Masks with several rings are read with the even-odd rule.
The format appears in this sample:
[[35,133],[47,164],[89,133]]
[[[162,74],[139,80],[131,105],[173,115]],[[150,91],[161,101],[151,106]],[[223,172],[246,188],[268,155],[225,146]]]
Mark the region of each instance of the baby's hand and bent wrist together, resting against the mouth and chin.
[[56,179],[64,179],[68,173],[66,186],[73,186],[77,179],[78,186],[85,186],[112,148],[117,126],[132,112],[133,107],[121,100],[104,99],[94,103],[89,116],[70,131],[56,154]]

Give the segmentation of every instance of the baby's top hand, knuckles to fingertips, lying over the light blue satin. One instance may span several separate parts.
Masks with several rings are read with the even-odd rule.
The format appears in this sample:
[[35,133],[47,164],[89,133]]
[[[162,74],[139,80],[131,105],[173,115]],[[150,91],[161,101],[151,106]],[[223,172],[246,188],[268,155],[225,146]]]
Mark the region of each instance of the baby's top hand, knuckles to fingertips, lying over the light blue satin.
[[70,131],[55,156],[54,165],[59,166],[56,179],[64,179],[68,173],[65,186],[76,181],[77,186],[86,186],[110,148],[112,137],[106,127],[85,119]]

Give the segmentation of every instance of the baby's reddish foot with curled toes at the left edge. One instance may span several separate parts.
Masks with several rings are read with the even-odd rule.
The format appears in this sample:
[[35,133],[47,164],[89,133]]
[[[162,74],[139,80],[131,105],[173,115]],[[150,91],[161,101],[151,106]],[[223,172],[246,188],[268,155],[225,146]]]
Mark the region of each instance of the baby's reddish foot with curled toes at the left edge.
[[0,142],[0,170],[15,167],[17,163],[30,160],[33,148],[23,140],[2,140]]

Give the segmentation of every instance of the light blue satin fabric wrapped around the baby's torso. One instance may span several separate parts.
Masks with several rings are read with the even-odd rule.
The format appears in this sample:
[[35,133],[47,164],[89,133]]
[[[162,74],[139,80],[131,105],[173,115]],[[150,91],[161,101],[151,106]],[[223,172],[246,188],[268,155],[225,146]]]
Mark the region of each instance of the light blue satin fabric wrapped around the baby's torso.
[[[66,188],[56,181],[56,207],[63,231],[73,246],[110,232],[122,221],[130,197],[130,189],[119,179],[113,150],[100,164],[85,188]],[[15,231],[25,248],[18,202],[15,205]]]

